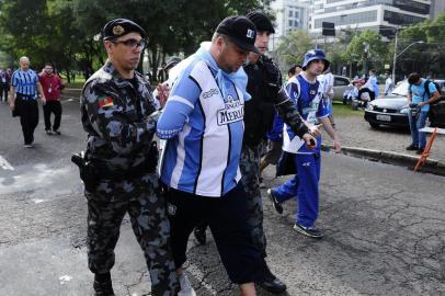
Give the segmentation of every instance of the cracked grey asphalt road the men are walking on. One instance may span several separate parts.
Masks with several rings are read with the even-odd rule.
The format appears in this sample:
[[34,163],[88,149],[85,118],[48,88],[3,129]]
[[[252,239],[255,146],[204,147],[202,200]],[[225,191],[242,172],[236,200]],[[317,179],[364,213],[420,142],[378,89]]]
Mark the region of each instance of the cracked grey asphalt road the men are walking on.
[[[69,100],[60,137],[45,135],[41,112],[34,149],[23,147],[19,119],[0,103],[0,295],[92,295],[87,203],[69,160],[85,136],[79,102]],[[269,186],[285,181],[273,173],[264,174]],[[267,262],[288,285],[284,295],[445,295],[445,178],[323,153],[320,191],[322,240],[294,232],[296,203],[278,215],[263,191]],[[189,244],[197,295],[237,295],[208,237],[204,247]],[[150,293],[127,219],[112,276],[117,295]]]

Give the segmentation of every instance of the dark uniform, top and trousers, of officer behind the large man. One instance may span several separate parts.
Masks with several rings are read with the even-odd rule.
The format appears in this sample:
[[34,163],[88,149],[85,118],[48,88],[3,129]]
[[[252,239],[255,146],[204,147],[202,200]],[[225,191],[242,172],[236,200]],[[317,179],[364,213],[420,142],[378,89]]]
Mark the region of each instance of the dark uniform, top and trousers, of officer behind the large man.
[[246,102],[246,128],[240,161],[241,182],[248,195],[252,238],[263,251],[263,257],[266,257],[263,202],[260,192],[260,161],[266,133],[272,127],[275,110],[297,135],[303,136],[308,133],[308,128],[282,89],[282,75],[272,59],[263,55],[256,64],[246,66],[244,70],[249,77],[247,90],[252,99]]

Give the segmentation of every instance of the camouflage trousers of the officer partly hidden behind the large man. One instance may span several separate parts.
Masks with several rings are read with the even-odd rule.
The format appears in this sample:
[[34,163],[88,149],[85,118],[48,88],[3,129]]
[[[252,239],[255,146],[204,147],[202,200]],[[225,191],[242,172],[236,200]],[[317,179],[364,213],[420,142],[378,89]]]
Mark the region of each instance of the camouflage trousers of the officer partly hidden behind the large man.
[[241,182],[248,196],[249,225],[252,228],[252,239],[266,257],[266,239],[263,229],[263,200],[260,191],[260,161],[262,144],[256,147],[243,145],[240,170]]

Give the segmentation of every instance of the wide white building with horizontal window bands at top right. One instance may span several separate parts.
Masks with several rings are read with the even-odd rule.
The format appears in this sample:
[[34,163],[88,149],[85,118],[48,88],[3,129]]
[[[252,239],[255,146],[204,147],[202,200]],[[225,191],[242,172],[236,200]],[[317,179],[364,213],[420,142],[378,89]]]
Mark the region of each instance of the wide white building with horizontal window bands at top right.
[[[313,0],[309,32],[321,35],[322,22],[335,30],[375,30],[391,36],[396,27],[430,19],[431,0]],[[444,0],[437,2],[444,3]]]

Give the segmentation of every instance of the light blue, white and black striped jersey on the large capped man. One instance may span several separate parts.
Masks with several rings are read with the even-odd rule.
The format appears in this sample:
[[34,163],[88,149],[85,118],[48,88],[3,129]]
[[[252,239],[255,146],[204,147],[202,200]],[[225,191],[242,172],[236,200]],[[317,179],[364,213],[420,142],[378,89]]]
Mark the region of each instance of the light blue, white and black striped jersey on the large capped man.
[[162,182],[210,197],[225,195],[241,179],[244,130],[242,91],[224,76],[215,79],[216,73],[208,61],[193,61],[176,80],[157,128],[169,139]]

